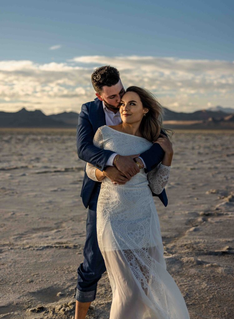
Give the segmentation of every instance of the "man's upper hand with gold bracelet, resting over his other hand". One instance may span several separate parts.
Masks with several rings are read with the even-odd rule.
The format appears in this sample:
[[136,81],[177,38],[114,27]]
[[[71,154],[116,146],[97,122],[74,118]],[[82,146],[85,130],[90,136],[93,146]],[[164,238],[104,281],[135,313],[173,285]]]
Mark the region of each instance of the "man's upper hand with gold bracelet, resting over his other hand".
[[[121,156],[121,155],[116,155],[116,157],[119,158],[116,159],[116,157],[113,160],[113,164],[118,168],[118,170],[124,174],[128,180],[131,179],[132,176],[136,175],[137,173],[140,172],[140,168],[134,162],[134,158],[138,157],[140,154],[136,155],[129,155],[129,156]],[[116,161],[115,161],[116,159]]]

